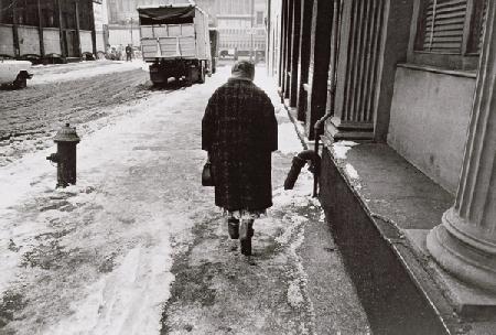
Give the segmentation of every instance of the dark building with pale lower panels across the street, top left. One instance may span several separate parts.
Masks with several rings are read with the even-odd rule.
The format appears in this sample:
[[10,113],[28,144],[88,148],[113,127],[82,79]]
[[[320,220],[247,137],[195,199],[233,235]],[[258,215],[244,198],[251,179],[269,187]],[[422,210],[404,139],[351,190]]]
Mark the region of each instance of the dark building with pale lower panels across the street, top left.
[[1,0],[0,55],[17,58],[96,54],[94,1]]

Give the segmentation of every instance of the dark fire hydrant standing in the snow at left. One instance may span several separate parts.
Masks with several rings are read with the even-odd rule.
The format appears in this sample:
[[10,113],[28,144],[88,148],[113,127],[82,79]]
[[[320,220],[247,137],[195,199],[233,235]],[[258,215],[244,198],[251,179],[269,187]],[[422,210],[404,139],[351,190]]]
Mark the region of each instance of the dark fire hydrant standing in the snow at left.
[[76,128],[65,123],[53,138],[57,143],[57,153],[52,153],[46,159],[57,163],[57,187],[66,187],[76,184],[76,144],[80,139]]

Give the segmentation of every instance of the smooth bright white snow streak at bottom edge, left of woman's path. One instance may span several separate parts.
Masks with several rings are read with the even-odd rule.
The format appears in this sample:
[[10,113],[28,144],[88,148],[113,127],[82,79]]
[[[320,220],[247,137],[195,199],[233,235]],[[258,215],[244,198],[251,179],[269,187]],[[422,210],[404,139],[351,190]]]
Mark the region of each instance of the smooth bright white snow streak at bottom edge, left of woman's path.
[[[161,220],[152,225],[163,225]],[[47,329],[46,334],[140,335],[158,334],[165,290],[174,277],[166,233],[152,248],[130,250],[121,264],[88,288],[88,295],[73,304],[74,314]]]

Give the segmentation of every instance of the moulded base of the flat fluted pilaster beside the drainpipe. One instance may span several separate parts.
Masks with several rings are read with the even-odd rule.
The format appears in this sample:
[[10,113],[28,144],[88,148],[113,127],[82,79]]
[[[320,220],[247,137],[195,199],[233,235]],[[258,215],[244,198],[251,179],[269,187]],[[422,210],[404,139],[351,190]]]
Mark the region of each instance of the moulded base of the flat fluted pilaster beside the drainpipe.
[[344,122],[339,118],[332,118],[326,132],[335,141],[339,140],[373,140],[374,125],[369,122]]

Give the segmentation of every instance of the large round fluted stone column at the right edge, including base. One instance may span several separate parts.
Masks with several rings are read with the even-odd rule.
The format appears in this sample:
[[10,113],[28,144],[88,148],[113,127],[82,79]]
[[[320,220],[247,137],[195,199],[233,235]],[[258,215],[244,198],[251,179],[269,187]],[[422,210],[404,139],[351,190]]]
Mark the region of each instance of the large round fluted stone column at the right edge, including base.
[[427,237],[448,272],[496,292],[496,1],[487,22],[462,172],[452,208]]

